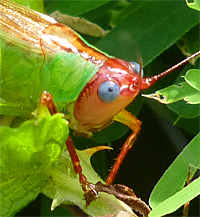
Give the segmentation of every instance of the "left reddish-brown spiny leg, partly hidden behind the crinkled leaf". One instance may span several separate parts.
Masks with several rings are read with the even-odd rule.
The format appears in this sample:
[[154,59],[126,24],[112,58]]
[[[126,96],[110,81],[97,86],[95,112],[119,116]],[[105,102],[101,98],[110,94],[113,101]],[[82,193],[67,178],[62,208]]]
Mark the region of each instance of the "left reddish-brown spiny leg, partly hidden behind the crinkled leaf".
[[[51,115],[58,113],[57,107],[53,102],[53,97],[50,93],[44,91],[40,96],[40,103],[42,105],[47,106]],[[79,174],[79,182],[84,191],[84,196],[86,199],[87,205],[89,205],[93,200],[96,200],[98,197],[98,192],[95,190],[95,185],[88,182],[87,178],[82,173],[82,167],[80,164],[79,157],[75,150],[74,144],[72,142],[71,136],[68,137],[66,141],[66,146],[69,151],[71,161],[74,167],[74,171],[76,174]]]

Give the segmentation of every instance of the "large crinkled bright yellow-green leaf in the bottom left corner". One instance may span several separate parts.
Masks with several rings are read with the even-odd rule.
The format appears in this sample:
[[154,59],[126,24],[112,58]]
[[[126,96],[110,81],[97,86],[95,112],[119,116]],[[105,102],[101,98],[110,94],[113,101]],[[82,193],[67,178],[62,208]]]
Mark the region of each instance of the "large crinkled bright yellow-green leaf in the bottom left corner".
[[61,156],[68,126],[61,114],[1,127],[1,215],[15,214],[41,192]]

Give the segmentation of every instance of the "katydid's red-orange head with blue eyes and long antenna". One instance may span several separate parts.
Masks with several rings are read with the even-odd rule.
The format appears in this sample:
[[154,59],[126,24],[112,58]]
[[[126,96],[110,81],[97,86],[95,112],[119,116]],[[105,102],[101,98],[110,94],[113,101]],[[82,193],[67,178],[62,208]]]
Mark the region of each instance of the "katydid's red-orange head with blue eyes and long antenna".
[[140,90],[149,88],[199,54],[200,51],[150,78],[141,77],[138,64],[108,58],[76,101],[74,115],[79,123],[78,128],[90,131],[108,125],[116,114],[135,99]]

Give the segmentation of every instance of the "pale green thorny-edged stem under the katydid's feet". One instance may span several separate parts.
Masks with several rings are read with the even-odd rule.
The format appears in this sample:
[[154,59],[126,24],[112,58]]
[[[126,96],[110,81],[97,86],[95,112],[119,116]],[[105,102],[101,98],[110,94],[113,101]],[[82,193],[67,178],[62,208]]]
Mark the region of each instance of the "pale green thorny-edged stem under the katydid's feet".
[[[101,180],[90,163],[90,157],[96,151],[98,151],[98,147],[77,151],[83,167],[83,173],[92,183]],[[66,167],[66,165],[68,165],[68,167]],[[74,173],[73,167],[70,165],[69,154],[66,151],[56,162],[54,168],[52,168],[51,179],[48,185],[42,190],[42,193],[53,199],[51,210],[54,210],[55,207],[60,204],[76,204],[90,216],[104,216],[108,214],[118,214],[120,211],[130,211],[121,201],[118,201],[112,195],[104,193],[100,193],[100,197],[87,207],[78,175]]]

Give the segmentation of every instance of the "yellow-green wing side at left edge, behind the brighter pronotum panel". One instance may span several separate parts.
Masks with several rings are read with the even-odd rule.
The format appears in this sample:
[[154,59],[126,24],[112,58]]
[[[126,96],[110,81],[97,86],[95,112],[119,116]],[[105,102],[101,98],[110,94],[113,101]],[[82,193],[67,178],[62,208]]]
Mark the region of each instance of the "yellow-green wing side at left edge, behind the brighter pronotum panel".
[[30,113],[37,107],[42,91],[39,71],[44,57],[5,40],[1,40],[1,52],[1,114]]

